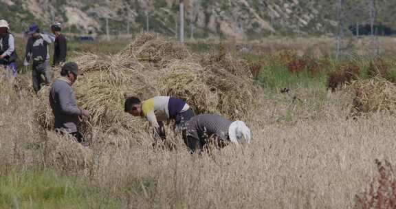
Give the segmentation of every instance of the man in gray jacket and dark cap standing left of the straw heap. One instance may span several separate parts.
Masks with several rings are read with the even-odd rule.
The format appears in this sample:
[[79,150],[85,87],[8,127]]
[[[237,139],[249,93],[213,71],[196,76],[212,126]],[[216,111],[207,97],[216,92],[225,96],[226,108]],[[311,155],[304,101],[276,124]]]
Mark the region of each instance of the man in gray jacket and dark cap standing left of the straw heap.
[[77,80],[79,70],[76,63],[66,63],[61,70],[61,77],[56,78],[50,90],[50,105],[55,116],[55,129],[58,133],[69,133],[83,142],[83,135],[78,131],[80,116],[89,117],[89,111],[77,106],[72,85]]

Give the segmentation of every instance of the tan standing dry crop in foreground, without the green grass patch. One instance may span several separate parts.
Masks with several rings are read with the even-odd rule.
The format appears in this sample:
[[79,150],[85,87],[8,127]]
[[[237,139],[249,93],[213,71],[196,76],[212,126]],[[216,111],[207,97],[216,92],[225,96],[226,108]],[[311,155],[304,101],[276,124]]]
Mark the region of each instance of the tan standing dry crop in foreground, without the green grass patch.
[[[153,148],[145,130],[88,135],[85,148],[37,129],[37,98],[0,88],[0,173],[56,170],[98,186],[122,208],[351,208],[377,175],[375,159],[396,162],[396,120],[384,113],[347,120],[351,96],[296,89],[302,102],[265,96],[246,122],[252,144],[190,155]],[[9,169],[8,169],[9,168]],[[32,200],[34,201],[34,199]]]

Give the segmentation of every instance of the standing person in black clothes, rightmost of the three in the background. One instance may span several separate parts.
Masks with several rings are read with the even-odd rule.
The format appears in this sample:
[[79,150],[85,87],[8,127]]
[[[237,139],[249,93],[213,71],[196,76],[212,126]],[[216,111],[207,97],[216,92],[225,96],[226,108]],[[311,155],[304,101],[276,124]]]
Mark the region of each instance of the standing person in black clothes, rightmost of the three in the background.
[[61,33],[61,23],[55,23],[51,25],[52,33],[55,35],[54,42],[54,62],[52,67],[62,65],[66,61],[67,56],[67,40],[66,37]]

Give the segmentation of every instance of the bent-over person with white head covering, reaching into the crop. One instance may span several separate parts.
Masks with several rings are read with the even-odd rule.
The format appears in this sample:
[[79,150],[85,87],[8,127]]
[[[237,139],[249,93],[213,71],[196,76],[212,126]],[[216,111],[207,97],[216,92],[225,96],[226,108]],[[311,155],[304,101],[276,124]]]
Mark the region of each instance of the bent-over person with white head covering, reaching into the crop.
[[250,129],[242,121],[230,121],[216,114],[192,117],[183,131],[184,143],[190,151],[203,151],[207,144],[222,148],[227,144],[250,143]]

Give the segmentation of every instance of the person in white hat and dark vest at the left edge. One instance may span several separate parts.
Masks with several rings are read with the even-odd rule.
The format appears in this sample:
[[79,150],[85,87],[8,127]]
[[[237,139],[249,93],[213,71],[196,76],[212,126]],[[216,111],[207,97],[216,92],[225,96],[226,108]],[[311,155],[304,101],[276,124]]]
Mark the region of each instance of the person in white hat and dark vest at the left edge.
[[17,52],[15,52],[14,36],[9,32],[8,22],[0,20],[0,65],[7,70],[8,79],[17,76]]

